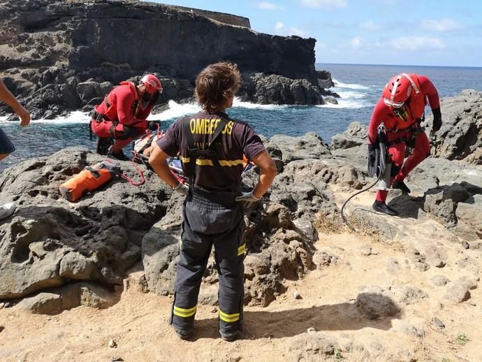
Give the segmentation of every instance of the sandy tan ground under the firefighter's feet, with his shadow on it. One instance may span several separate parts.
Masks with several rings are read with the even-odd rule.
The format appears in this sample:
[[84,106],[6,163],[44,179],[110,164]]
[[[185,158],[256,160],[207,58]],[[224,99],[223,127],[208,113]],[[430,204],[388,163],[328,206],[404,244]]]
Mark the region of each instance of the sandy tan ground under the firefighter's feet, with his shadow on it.
[[[372,196],[354,203],[370,208]],[[434,222],[398,223],[413,235]],[[245,307],[245,333],[235,342],[219,338],[217,307],[207,305],[198,308],[193,339],[180,340],[168,326],[172,299],[136,289],[124,291],[119,303],[106,310],[78,307],[47,316],[3,308],[0,361],[482,361],[482,289],[473,289],[469,301],[447,304],[441,303],[446,288],[430,282],[435,275],[456,280],[467,274],[450,262],[458,258],[458,245],[446,243],[446,268],[421,272],[404,254],[404,242],[400,238],[390,245],[353,233],[321,233],[316,249],[337,261],[286,282],[286,293],[268,307]],[[387,272],[393,259],[401,266],[398,273]],[[403,305],[396,317],[370,320],[356,307],[358,294],[367,287],[406,285],[428,296]],[[434,317],[444,322],[443,329],[434,326]],[[310,333],[335,340],[339,349],[326,355],[314,348],[301,356],[306,344],[300,341]],[[110,340],[117,346],[109,347]]]

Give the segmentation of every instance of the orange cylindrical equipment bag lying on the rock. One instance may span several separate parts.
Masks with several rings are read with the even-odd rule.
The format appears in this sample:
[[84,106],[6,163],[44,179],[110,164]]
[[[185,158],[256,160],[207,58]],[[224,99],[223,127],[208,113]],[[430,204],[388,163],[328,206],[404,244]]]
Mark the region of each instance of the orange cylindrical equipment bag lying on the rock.
[[99,162],[93,167],[87,166],[73,178],[61,184],[59,190],[68,201],[78,201],[88,192],[95,191],[107,183],[112,176],[119,174],[120,170],[114,164]]

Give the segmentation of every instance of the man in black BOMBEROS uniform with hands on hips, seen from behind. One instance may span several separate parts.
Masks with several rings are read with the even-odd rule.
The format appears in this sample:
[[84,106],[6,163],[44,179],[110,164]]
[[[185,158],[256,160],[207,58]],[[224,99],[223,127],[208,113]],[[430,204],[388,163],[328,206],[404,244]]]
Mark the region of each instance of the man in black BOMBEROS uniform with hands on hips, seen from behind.
[[[196,99],[203,110],[183,117],[156,141],[149,163],[159,178],[187,195],[173,312],[177,335],[192,333],[201,278],[214,244],[219,273],[219,333],[235,340],[240,333],[244,298],[244,203],[260,200],[276,175],[276,166],[251,127],[224,113],[240,87],[235,65],[207,66],[196,78]],[[180,153],[189,188],[168,168]],[[243,154],[260,169],[256,187],[241,191]]]

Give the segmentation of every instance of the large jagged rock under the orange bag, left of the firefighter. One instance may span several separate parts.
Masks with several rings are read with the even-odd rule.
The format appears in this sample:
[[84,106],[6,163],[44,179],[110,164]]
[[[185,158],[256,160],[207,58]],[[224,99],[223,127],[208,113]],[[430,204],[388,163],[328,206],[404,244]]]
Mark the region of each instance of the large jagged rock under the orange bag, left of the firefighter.
[[1,200],[18,206],[0,223],[0,299],[80,281],[122,285],[126,270],[140,259],[143,236],[165,215],[171,191],[147,175],[150,182],[140,188],[117,180],[107,193],[79,203],[61,198],[64,180],[100,160],[73,148],[3,171]]

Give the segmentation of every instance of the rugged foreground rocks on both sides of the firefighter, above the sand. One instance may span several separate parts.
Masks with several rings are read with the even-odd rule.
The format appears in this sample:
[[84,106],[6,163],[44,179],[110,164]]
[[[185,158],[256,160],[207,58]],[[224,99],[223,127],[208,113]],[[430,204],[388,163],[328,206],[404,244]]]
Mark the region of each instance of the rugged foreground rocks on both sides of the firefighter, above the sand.
[[[441,104],[445,122],[434,143],[434,157],[410,178],[423,197],[394,202],[402,210],[425,210],[454,238],[473,242],[482,236],[475,212],[481,207],[482,171],[477,157],[481,145],[471,145],[472,140],[480,140],[472,131],[481,133],[482,93],[467,90]],[[279,175],[269,196],[247,212],[247,270],[251,271],[246,276],[254,292],[246,303],[268,305],[282,293],[284,279],[302,277],[316,268],[312,249],[318,240],[316,223],[321,218],[339,224],[336,192],[353,192],[370,182],[365,142],[366,126],[357,122],[334,136],[332,145],[315,133],[264,139]],[[67,148],[3,171],[1,199],[14,201],[19,210],[0,224],[0,300],[18,301],[53,289],[61,299],[64,288],[70,293],[79,283],[122,288],[127,270],[140,262],[146,291],[172,293],[182,197],[145,170],[147,182],[141,187],[115,180],[78,203],[61,198],[59,184],[101,159],[92,150]],[[119,164],[136,176],[129,163]],[[248,173],[245,187],[256,177]],[[370,217],[377,222],[384,219],[368,215],[363,222],[374,222]],[[205,282],[215,284],[216,279],[207,276]],[[211,297],[214,303],[216,294]]]

